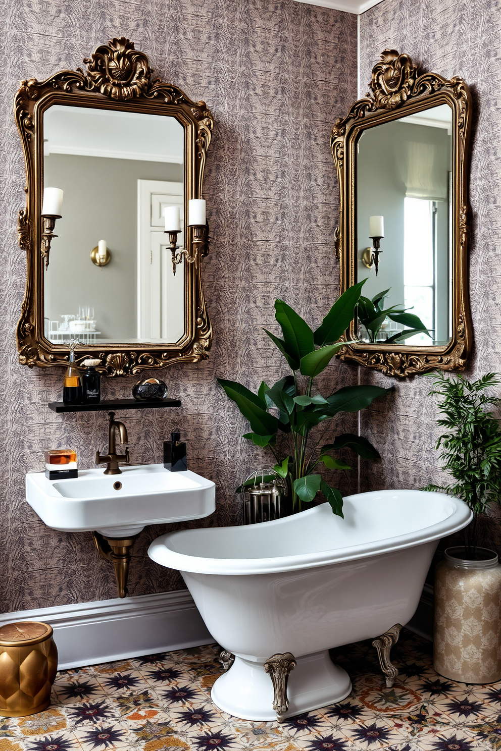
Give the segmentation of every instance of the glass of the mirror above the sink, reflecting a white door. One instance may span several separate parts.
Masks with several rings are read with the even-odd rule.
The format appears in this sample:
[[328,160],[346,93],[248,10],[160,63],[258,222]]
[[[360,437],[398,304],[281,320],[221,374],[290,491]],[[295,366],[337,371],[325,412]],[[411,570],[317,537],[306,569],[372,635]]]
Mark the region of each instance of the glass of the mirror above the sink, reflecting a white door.
[[[50,342],[183,337],[184,263],[174,275],[163,212],[180,207],[183,247],[184,155],[175,117],[59,104],[44,112],[44,188],[64,191],[44,272]],[[101,267],[91,258],[100,240],[110,254]]]

